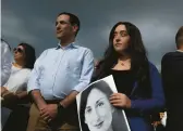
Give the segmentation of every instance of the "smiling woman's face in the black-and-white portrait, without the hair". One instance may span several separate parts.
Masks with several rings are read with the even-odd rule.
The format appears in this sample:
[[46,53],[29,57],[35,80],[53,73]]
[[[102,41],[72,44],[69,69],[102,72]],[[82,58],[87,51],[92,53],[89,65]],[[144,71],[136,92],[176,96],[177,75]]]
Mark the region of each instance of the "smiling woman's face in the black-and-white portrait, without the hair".
[[112,122],[113,107],[109,99],[98,89],[93,89],[88,95],[85,108],[85,123],[90,131],[108,131]]

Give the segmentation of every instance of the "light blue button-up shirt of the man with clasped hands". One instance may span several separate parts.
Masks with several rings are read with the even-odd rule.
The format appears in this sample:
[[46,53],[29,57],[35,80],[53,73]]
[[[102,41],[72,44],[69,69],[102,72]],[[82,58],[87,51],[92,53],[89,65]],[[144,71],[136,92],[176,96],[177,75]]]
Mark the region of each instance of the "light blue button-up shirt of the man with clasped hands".
[[90,82],[94,56],[89,49],[71,43],[48,49],[37,58],[27,90],[40,90],[45,100],[64,99]]

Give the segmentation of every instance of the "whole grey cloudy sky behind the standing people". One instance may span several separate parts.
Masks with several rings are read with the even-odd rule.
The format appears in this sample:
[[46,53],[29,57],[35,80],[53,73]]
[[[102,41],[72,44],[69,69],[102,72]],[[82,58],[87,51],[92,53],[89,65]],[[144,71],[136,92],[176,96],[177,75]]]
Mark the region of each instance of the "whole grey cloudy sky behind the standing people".
[[159,68],[162,55],[175,50],[174,36],[183,25],[182,5],[183,0],[1,0],[1,35],[12,48],[30,43],[38,56],[57,45],[56,17],[66,11],[81,19],[78,43],[99,58],[112,26],[129,21],[142,31],[148,57]]

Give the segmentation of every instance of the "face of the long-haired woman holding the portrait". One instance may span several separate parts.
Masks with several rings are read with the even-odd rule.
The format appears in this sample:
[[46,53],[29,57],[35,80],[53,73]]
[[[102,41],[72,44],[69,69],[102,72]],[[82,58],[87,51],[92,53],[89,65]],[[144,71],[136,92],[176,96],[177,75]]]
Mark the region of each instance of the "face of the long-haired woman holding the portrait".
[[113,32],[113,48],[117,52],[122,52],[127,49],[130,43],[130,36],[127,34],[125,25],[117,26]]

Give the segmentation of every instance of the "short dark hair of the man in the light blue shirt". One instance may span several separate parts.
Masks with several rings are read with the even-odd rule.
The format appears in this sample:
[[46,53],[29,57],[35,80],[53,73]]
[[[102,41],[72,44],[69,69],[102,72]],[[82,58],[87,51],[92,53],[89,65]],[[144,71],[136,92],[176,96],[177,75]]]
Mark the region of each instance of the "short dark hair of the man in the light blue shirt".
[[62,14],[70,16],[70,23],[71,23],[72,26],[76,25],[78,27],[78,29],[77,29],[77,31],[75,34],[75,36],[76,36],[78,30],[80,30],[80,25],[81,25],[78,17],[76,15],[72,14],[72,13],[69,13],[69,12],[62,12],[58,16],[60,16]]

